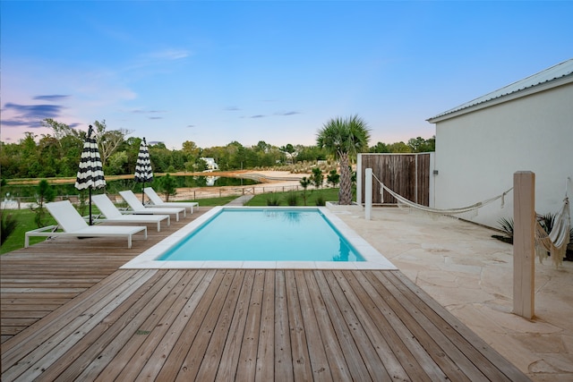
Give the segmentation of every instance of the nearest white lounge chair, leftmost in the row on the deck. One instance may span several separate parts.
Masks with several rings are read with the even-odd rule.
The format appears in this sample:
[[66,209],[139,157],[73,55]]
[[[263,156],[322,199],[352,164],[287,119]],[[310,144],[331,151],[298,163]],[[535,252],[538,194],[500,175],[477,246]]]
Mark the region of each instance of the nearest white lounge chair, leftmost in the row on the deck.
[[[73,208],[70,200],[46,203],[46,208],[56,219],[57,225],[49,225],[25,233],[24,247],[28,248],[30,246],[30,236],[127,237],[127,248],[132,248],[132,236],[135,233],[143,232],[147,239],[146,226],[88,225],[78,211]],[[64,232],[56,232],[58,227]]]

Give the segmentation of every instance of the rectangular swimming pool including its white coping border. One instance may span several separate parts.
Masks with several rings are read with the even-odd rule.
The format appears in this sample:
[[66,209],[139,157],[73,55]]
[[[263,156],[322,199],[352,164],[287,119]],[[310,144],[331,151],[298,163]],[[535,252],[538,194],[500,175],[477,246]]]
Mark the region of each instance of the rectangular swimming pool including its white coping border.
[[122,268],[395,269],[328,208],[217,207]]

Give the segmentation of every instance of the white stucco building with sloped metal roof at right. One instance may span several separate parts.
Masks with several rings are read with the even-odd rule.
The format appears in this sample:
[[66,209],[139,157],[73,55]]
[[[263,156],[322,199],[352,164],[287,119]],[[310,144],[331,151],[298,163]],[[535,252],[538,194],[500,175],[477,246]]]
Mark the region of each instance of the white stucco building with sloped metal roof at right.
[[[535,173],[535,210],[555,213],[573,194],[573,59],[428,119],[436,124],[436,208],[456,208],[508,190],[517,171]],[[498,226],[513,216],[493,203],[471,217]]]

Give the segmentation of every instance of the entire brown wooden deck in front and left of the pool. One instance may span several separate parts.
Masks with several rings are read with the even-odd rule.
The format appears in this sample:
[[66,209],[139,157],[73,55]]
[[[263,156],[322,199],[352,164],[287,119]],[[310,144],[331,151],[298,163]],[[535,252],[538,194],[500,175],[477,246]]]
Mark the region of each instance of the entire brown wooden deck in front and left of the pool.
[[196,216],[2,256],[2,380],[528,380],[399,271],[118,269]]

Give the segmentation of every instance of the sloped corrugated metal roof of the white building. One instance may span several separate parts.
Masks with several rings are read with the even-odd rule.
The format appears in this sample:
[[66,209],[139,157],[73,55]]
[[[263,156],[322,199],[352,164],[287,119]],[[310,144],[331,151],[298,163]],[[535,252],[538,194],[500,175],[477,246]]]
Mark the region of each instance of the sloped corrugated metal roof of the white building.
[[509,85],[504,86],[501,89],[492,91],[491,93],[488,93],[485,96],[475,98],[469,102],[466,102],[465,104],[454,107],[453,109],[449,109],[448,111],[440,113],[439,115],[435,115],[432,118],[429,118],[428,121],[432,122],[432,120],[440,118],[444,115],[449,115],[458,112],[460,110],[466,109],[468,107],[480,105],[485,102],[492,101],[493,99],[503,98],[509,96],[510,94],[517,93],[518,91],[534,88],[535,86],[541,85],[543,83],[559,80],[567,76],[573,76],[573,58],[564,61],[560,64],[556,64],[551,68],[545,69],[541,72],[535,73],[534,75],[526,77],[523,80],[510,83]]

